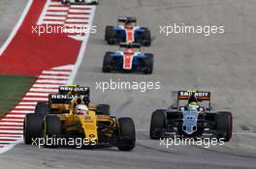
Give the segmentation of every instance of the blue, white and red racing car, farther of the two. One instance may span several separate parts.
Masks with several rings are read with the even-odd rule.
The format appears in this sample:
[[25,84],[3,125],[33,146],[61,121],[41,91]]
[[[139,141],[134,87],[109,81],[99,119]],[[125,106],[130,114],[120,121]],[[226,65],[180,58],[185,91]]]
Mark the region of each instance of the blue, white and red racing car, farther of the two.
[[137,26],[135,17],[121,16],[117,19],[117,26],[107,26],[105,41],[108,44],[119,42],[139,42],[141,45],[151,45],[151,33],[145,27]]

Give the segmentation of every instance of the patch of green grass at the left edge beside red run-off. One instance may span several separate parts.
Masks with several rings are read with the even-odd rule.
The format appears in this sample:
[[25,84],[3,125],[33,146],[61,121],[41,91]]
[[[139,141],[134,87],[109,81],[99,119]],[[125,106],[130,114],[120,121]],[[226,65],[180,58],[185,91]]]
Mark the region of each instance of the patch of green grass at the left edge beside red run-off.
[[35,80],[35,76],[0,75],[0,116],[16,106]]

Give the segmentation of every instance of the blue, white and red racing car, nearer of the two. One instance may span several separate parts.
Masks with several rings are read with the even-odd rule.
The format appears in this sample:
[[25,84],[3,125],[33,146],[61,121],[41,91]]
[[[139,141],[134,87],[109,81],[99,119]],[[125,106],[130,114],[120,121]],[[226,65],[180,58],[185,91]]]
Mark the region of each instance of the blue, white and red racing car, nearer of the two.
[[103,61],[103,72],[112,70],[143,71],[150,74],[153,71],[154,55],[142,53],[140,43],[120,43],[116,52],[106,52]]

